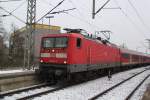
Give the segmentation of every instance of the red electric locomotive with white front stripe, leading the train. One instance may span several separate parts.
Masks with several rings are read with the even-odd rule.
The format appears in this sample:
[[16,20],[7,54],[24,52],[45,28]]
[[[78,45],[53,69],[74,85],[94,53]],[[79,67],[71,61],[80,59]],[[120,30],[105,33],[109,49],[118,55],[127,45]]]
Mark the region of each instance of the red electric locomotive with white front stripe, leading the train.
[[92,38],[89,34],[81,34],[81,30],[67,31],[42,38],[40,72],[44,77],[54,80],[71,78],[78,73],[98,72],[131,64],[128,58],[130,54],[116,45],[101,38]]

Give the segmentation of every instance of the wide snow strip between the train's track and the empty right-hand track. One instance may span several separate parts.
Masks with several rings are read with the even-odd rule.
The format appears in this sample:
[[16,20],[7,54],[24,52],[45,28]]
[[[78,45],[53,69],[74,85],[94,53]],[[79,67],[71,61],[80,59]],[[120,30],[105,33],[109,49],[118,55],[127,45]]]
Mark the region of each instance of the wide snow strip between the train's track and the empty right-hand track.
[[[86,82],[84,84],[65,88],[63,90],[56,91],[54,93],[49,93],[47,95],[34,98],[34,100],[88,100],[94,95],[99,94],[100,92],[132,76],[133,74],[140,72],[141,70],[144,70],[144,68],[133,69],[131,71],[115,74],[112,76],[112,79],[110,81],[108,80],[107,77],[99,78],[93,81]],[[135,86],[135,84],[133,86]],[[121,93],[122,90],[119,90],[117,92]],[[121,95],[117,95],[117,96],[119,97]],[[117,100],[116,97],[114,98],[115,99],[110,98],[108,96],[108,98],[106,98],[105,100]],[[124,99],[119,99],[119,100],[124,100]]]

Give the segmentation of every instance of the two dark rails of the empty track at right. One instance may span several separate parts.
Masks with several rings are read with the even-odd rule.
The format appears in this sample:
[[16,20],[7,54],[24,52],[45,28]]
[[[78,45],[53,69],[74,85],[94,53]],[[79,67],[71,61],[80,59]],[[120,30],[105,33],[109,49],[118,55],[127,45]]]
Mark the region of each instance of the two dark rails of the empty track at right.
[[[121,81],[121,82],[119,82],[118,84],[116,84],[116,85],[114,85],[114,86],[112,86],[112,87],[106,89],[105,91],[103,91],[103,92],[101,92],[101,93],[99,93],[99,94],[97,94],[97,95],[95,95],[95,96],[89,98],[89,100],[96,100],[96,99],[98,99],[99,97],[102,97],[102,96],[105,95],[106,93],[108,93],[108,92],[110,92],[111,90],[113,90],[113,89],[119,87],[119,86],[122,85],[123,83],[129,81],[130,79],[132,79],[132,78],[134,78],[134,77],[136,77],[136,76],[138,76],[139,74],[142,74],[143,72],[145,72],[145,71],[147,71],[147,70],[150,70],[150,69],[145,69],[144,71],[141,71],[141,72],[139,72],[139,73],[137,73],[137,74],[135,74],[135,75],[133,75],[133,76],[131,76],[131,77],[129,77],[129,78],[127,78],[127,79]],[[144,83],[144,81],[145,81],[147,78],[149,78],[149,77],[150,77],[150,74],[147,75],[147,76],[140,82],[140,84],[139,84],[135,89],[133,89],[133,91],[126,97],[125,100],[129,100],[129,99],[133,96],[133,94],[135,93],[135,91],[136,91],[136,90]]]

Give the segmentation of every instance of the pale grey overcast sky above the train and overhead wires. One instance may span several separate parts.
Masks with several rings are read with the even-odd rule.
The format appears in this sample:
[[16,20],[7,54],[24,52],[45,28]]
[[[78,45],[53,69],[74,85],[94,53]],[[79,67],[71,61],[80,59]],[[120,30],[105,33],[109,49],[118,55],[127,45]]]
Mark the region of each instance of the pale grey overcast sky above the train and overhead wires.
[[[36,19],[46,14],[60,1],[37,0]],[[144,45],[148,46],[148,43],[146,43],[145,39],[150,39],[150,0],[110,0],[105,8],[120,7],[121,9],[103,9],[95,16],[95,19],[92,19],[91,14],[92,1],[65,0],[54,11],[70,8],[76,8],[76,10],[69,11],[68,14],[55,14],[54,18],[51,19],[51,24],[61,27],[82,28],[91,34],[94,34],[95,31],[110,30],[112,31],[111,42],[117,45],[125,43],[130,49],[146,51]],[[96,0],[96,10],[106,1]],[[10,12],[18,8],[13,14],[26,21],[26,0],[0,3],[0,6]],[[3,11],[1,13],[6,14]],[[19,28],[25,26],[25,24],[12,16],[2,18],[2,20],[8,32],[11,30],[11,23],[14,23]],[[44,23],[48,24],[48,19],[44,18]]]

